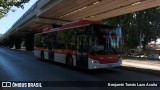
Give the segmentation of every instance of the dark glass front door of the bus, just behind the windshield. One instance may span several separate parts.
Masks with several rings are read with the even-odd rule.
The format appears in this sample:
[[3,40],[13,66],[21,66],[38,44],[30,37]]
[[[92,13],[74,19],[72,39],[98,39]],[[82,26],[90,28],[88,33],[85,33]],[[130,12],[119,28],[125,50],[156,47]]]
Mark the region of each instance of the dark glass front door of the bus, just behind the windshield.
[[88,45],[88,35],[77,34],[76,66],[88,68]]

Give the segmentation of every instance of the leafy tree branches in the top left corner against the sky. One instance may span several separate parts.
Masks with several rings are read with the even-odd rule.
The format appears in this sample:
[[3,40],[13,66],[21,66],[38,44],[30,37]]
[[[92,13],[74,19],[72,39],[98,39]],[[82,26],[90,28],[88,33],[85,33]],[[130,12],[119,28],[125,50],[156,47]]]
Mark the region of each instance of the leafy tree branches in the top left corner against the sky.
[[29,1],[30,0],[0,0],[0,18],[4,17],[12,6],[23,9],[23,4]]

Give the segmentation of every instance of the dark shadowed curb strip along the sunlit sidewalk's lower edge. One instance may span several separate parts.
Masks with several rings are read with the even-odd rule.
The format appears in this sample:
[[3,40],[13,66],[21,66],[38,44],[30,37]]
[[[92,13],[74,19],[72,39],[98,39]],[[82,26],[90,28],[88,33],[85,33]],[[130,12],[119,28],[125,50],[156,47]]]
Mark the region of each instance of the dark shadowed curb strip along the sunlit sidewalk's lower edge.
[[136,67],[131,67],[131,66],[122,66],[121,68],[122,69],[127,69],[127,70],[132,70],[132,71],[138,71],[138,72],[141,72],[141,73],[147,73],[147,74],[160,76],[160,71],[158,71],[158,70],[136,68]]

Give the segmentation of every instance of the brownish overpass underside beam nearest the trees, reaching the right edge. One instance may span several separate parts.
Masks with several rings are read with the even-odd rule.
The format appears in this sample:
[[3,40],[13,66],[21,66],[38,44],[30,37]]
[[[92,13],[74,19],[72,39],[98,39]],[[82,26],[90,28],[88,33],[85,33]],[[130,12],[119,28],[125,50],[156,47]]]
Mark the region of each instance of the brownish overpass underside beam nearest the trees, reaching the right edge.
[[113,11],[103,13],[103,14],[97,15],[95,17],[90,17],[87,19],[88,20],[101,20],[102,18],[111,18],[111,17],[115,17],[115,16],[127,14],[127,13],[132,13],[135,11],[149,9],[149,8],[156,7],[156,6],[160,6],[160,2],[155,2],[154,0],[146,0],[143,3],[137,4],[134,6],[119,8],[117,10],[113,10]]

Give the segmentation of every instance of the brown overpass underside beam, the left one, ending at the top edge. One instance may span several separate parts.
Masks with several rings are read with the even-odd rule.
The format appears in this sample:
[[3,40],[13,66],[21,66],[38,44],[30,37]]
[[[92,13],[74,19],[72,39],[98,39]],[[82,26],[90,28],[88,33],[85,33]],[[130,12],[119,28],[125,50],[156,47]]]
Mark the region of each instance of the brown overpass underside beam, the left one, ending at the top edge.
[[109,12],[112,10],[116,10],[126,5],[131,5],[139,0],[102,0],[100,3],[96,5],[91,5],[84,10],[81,10],[77,13],[73,13],[72,15],[64,17],[65,19],[83,19],[90,16],[95,16],[103,12]]

